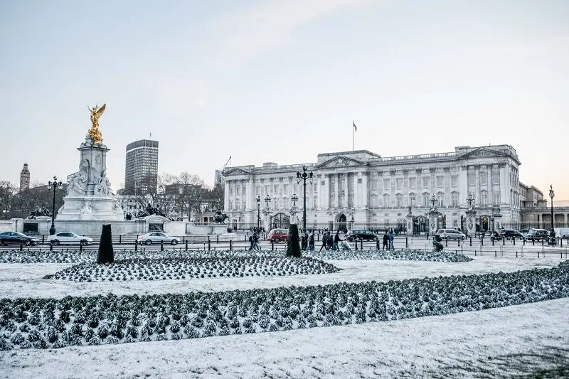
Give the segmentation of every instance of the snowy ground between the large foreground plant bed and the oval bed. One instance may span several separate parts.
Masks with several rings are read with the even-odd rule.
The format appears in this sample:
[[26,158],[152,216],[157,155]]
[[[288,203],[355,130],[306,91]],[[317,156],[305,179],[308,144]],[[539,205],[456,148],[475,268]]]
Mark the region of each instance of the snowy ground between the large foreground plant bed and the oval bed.
[[95,294],[164,294],[191,291],[228,291],[233,289],[307,286],[339,282],[368,282],[400,280],[421,277],[438,277],[487,272],[514,272],[521,269],[555,267],[559,258],[474,257],[471,262],[424,262],[398,260],[334,260],[326,261],[341,268],[340,272],[321,275],[290,277],[230,277],[204,279],[171,279],[129,282],[68,282],[42,279],[55,274],[70,264],[55,263],[3,263],[0,264],[1,297],[55,297],[90,296]]

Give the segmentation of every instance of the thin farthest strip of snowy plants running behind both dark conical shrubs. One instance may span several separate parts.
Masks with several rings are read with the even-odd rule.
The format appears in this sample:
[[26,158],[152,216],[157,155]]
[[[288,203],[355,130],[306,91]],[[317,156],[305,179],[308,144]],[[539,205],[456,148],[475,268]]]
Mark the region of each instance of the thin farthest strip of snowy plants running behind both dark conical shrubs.
[[[469,262],[472,258],[457,255],[451,252],[432,252],[425,250],[352,250],[352,251],[326,251],[303,252],[304,257],[320,260],[425,260],[432,262]],[[164,250],[164,251],[124,251],[115,252],[115,260],[126,259],[161,259],[177,257],[250,257],[252,255],[285,255],[283,250],[250,252],[249,250]],[[0,253],[0,263],[82,263],[95,262],[96,251],[78,250],[48,250],[17,251],[11,250]]]

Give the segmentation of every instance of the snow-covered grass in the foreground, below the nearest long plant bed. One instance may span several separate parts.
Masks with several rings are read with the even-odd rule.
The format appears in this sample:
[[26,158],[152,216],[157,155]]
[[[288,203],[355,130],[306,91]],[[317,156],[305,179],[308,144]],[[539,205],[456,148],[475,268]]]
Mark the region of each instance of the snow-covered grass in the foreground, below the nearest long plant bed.
[[[536,356],[521,365],[518,354],[569,346],[568,308],[569,299],[557,299],[350,326],[8,351],[0,378],[504,378],[550,365]],[[560,354],[567,367],[568,351]]]

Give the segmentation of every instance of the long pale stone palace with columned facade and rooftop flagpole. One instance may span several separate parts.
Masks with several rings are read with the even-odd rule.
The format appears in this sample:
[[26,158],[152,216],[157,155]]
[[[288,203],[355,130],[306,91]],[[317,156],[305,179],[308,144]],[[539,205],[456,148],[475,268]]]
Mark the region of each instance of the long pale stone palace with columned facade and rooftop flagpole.
[[477,230],[494,230],[520,222],[519,166],[512,146],[496,145],[390,157],[342,151],[318,154],[315,163],[230,167],[223,171],[224,213],[233,228],[301,225],[297,172],[306,167],[307,228],[405,228],[412,219],[413,232],[428,232],[433,208],[436,228],[461,228],[471,203]]

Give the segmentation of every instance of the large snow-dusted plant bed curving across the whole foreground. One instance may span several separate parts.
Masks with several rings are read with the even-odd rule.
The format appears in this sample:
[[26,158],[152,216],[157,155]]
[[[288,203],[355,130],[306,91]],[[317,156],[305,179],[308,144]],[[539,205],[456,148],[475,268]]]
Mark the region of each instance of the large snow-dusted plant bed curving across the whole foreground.
[[161,341],[360,324],[560,297],[569,297],[567,264],[506,274],[248,291],[1,299],[0,349]]

